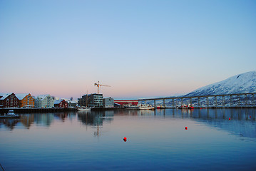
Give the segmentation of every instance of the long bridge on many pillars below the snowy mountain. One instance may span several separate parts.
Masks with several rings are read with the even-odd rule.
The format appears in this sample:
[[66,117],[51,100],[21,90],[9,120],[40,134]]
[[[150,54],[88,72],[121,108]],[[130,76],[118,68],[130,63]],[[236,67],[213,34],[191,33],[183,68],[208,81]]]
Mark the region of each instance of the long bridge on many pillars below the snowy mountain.
[[139,103],[154,101],[154,107],[157,108],[156,101],[162,100],[161,106],[167,108],[166,101],[169,100],[168,108],[175,108],[177,105],[193,105],[195,108],[256,108],[256,93],[235,93],[223,95],[200,95],[200,96],[180,96],[168,98],[140,98]]

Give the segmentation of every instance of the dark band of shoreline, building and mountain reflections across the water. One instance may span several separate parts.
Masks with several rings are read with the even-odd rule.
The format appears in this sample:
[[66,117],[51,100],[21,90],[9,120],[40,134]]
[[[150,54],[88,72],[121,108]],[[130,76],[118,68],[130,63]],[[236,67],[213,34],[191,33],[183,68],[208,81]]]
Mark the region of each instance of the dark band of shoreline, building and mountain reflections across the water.
[[[162,109],[162,110],[106,110],[69,113],[35,113],[22,114],[20,119],[2,119],[1,125],[14,130],[17,125],[30,129],[32,125],[48,128],[54,120],[77,120],[82,125],[95,128],[95,136],[100,135],[103,124],[114,120],[114,116],[160,117],[164,119],[190,119],[208,125],[210,128],[219,128],[241,137],[256,138],[255,109]],[[77,118],[76,118],[77,117]],[[229,120],[230,118],[230,120]]]

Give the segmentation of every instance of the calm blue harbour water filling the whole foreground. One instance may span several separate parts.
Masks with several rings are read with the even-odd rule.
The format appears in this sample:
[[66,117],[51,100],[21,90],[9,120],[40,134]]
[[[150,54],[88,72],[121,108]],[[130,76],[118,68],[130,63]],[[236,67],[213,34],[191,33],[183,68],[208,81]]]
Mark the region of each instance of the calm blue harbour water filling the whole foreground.
[[0,120],[0,163],[6,171],[256,170],[255,114],[255,109],[24,114]]

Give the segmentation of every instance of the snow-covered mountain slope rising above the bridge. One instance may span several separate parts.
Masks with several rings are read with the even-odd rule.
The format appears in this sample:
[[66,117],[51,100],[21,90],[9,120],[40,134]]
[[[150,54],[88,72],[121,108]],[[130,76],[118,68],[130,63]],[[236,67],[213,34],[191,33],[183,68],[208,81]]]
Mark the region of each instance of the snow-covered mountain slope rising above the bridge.
[[184,96],[198,95],[222,95],[234,93],[255,93],[256,92],[256,71],[242,73],[232,76],[224,81],[198,88]]

